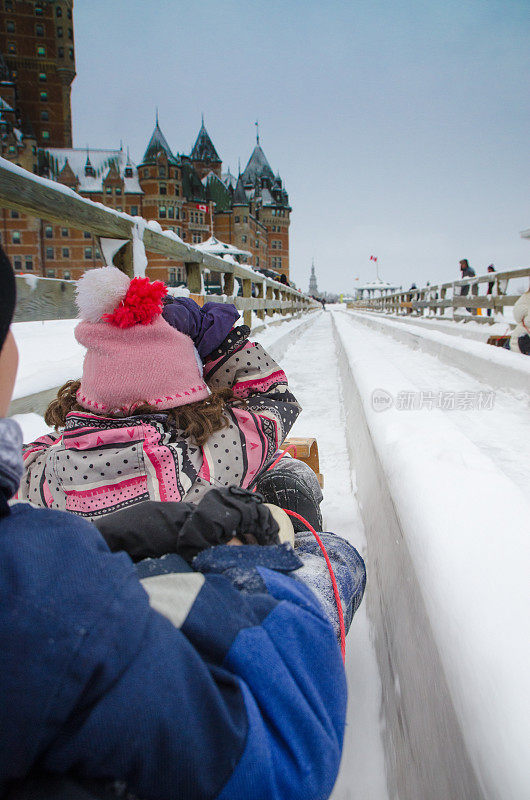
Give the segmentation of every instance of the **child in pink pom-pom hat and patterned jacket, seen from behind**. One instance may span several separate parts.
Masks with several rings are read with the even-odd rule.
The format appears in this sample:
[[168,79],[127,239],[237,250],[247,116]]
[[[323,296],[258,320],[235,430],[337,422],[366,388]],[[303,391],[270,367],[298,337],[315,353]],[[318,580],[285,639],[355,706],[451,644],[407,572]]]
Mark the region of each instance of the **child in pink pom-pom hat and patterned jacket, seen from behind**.
[[177,299],[163,311],[166,293],[115,267],[78,282],[83,375],[46,412],[57,433],[24,446],[20,499],[95,519],[246,488],[270,463],[300,412],[285,373],[232,328],[233,306]]

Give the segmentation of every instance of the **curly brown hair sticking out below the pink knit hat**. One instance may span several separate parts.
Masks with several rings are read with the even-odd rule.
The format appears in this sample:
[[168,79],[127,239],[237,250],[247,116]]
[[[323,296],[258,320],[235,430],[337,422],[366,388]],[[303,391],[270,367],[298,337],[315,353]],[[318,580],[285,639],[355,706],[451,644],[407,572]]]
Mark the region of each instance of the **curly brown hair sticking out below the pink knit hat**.
[[[80,386],[81,381],[79,380],[66,381],[64,386],[61,386],[57,392],[57,397],[51,401],[44,414],[44,420],[47,425],[53,426],[57,431],[66,425],[66,415],[70,411],[87,412],[87,409],[77,402],[76,393]],[[171,427],[182,431],[186,438],[192,439],[196,445],[202,447],[213,433],[228,427],[229,419],[225,414],[228,403],[236,404],[240,407],[246,405],[245,401],[238,398],[232,389],[224,388],[214,389],[209,397],[205,400],[199,400],[197,403],[165,409],[163,412],[148,403],[144,403],[120,416],[167,414]],[[90,413],[95,414],[96,412],[90,411]],[[115,417],[117,415],[98,414],[98,416]]]

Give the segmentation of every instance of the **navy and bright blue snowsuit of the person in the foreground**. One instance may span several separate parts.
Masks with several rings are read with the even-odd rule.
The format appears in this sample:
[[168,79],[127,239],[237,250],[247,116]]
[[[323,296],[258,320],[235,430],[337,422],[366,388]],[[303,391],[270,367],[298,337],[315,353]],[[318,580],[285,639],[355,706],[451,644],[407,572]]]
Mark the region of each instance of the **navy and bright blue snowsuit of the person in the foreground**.
[[[40,716],[25,731],[21,720],[7,770],[29,737],[46,769],[119,779],[145,800],[328,796],[345,676],[332,627],[305,586],[264,567],[253,594],[223,575],[170,573],[144,581],[148,599],[131,562],[108,552],[91,525],[72,531],[70,515],[29,512],[53,515],[57,530],[39,536],[44,564],[17,579],[37,610],[11,636],[12,658],[31,698],[24,720],[37,708]],[[27,539],[28,520],[23,530]],[[51,598],[47,609],[35,605],[39,596]],[[7,720],[6,712],[0,733],[12,730]]]

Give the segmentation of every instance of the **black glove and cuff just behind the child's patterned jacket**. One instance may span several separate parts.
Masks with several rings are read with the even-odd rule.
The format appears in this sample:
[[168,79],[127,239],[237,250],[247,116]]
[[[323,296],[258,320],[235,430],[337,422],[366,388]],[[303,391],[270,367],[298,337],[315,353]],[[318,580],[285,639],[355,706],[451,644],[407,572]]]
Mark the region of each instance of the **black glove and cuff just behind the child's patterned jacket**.
[[260,494],[238,486],[211,489],[197,504],[147,500],[94,521],[109,548],[133,561],[197,553],[237,536],[243,544],[278,544],[278,523]]

